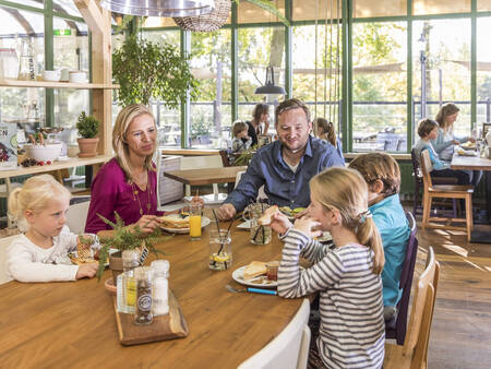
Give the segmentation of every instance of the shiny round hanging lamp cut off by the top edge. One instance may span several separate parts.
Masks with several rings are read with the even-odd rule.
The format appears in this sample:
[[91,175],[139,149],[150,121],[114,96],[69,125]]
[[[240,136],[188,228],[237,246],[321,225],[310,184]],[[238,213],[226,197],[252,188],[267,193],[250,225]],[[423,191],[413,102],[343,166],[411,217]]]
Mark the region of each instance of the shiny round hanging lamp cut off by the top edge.
[[145,16],[191,16],[208,14],[214,0],[101,0],[100,7],[112,12]]

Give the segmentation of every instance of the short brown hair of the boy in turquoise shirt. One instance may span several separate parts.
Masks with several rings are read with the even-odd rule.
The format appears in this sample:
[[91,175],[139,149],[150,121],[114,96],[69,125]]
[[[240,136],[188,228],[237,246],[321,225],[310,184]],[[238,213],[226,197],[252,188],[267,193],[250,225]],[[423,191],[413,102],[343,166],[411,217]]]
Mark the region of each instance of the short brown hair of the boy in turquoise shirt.
[[363,176],[369,189],[376,180],[381,180],[384,186],[381,193],[385,198],[399,192],[399,165],[388,154],[369,153],[359,155],[349,163],[349,168],[358,170]]

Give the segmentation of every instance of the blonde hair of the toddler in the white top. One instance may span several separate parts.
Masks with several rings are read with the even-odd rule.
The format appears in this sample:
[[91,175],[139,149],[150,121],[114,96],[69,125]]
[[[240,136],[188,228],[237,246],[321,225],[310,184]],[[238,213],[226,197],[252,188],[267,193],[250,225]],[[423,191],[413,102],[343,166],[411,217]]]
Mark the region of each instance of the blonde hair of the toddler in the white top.
[[16,188],[9,197],[9,216],[17,222],[22,231],[27,230],[28,225],[24,213],[43,211],[49,202],[62,198],[70,199],[71,193],[50,175],[40,175],[27,179],[21,188]]

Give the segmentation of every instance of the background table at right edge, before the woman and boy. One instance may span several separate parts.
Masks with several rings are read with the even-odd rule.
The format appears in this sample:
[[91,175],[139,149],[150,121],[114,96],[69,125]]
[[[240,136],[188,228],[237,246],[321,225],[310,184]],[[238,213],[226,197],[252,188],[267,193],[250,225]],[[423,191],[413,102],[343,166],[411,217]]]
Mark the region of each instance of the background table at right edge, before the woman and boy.
[[[491,224],[491,159],[480,156],[464,156],[454,153],[451,163],[454,170],[483,170],[486,172],[486,202],[488,206],[488,223]],[[477,243],[491,243],[489,231],[472,230],[470,241]]]

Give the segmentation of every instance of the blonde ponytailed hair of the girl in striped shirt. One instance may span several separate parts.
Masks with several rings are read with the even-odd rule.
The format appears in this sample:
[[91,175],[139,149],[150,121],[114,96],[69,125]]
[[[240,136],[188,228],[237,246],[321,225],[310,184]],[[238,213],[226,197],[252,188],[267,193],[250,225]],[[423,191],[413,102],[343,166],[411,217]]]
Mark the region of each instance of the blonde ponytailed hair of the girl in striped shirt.
[[312,178],[310,191],[324,211],[338,210],[342,226],[354,229],[360,245],[373,250],[373,273],[382,273],[384,249],[379,229],[368,211],[368,188],[363,177],[354,169],[328,168]]

